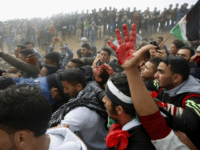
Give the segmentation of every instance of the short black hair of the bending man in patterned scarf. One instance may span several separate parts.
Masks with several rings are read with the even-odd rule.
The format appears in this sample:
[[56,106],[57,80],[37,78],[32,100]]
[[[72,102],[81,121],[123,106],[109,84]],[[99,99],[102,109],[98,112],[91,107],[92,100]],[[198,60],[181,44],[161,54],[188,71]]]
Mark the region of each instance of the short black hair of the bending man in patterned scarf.
[[83,72],[78,68],[64,69],[59,72],[60,81],[67,81],[71,85],[75,86],[80,83],[83,88],[86,87],[86,79]]

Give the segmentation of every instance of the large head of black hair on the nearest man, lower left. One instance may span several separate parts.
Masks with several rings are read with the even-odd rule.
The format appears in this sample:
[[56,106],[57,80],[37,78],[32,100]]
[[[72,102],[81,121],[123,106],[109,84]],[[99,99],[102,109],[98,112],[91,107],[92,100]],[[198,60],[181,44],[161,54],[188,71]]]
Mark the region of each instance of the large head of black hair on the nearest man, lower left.
[[46,133],[51,105],[38,87],[14,85],[0,92],[0,101],[0,128],[8,134],[26,129],[38,138]]

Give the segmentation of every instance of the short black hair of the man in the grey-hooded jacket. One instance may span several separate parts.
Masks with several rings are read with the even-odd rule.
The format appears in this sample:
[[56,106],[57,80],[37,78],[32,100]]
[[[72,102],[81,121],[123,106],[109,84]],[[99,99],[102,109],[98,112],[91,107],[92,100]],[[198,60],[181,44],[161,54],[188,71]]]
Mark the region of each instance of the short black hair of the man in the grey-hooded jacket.
[[182,82],[188,79],[190,75],[190,66],[187,60],[181,56],[168,56],[163,57],[162,62],[170,67],[173,74],[180,74]]

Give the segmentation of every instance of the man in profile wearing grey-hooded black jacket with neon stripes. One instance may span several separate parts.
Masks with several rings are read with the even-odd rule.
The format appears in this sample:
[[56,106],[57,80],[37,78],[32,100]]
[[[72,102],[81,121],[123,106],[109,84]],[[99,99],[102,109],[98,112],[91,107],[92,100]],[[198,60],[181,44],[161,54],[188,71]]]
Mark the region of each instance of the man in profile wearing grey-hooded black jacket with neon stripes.
[[[190,67],[183,57],[162,58],[157,70],[156,79],[146,84],[148,90],[158,92],[158,104],[174,115],[171,116],[169,127],[184,132],[199,148],[199,142],[194,137],[200,133],[200,83],[189,76]],[[193,95],[187,98],[190,94]]]

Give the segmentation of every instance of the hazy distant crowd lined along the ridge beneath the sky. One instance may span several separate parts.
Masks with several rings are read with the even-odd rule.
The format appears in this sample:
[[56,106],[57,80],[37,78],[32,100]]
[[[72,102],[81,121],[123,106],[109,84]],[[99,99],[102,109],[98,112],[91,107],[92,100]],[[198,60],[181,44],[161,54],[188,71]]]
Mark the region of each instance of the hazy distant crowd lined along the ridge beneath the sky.
[[[49,44],[53,36],[62,36],[69,38],[76,35],[76,41],[81,37],[90,40],[91,46],[95,46],[96,40],[103,38],[105,35],[113,35],[116,28],[122,30],[122,25],[137,25],[137,33],[144,38],[150,38],[154,33],[163,33],[169,31],[174,25],[188,12],[188,4],[179,4],[164,10],[153,11],[147,8],[144,12],[136,7],[131,10],[116,8],[104,10],[92,10],[87,12],[72,12],[68,14],[57,14],[50,18],[32,18],[32,19],[15,19],[0,22],[0,48],[3,42],[6,42],[9,51],[12,51],[16,45],[23,45],[27,41],[33,42],[36,47],[42,47]],[[192,6],[191,6],[192,7]],[[190,8],[191,9],[191,8]]]

